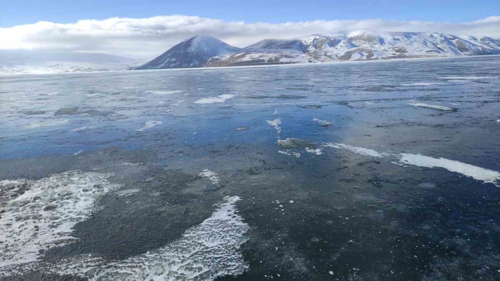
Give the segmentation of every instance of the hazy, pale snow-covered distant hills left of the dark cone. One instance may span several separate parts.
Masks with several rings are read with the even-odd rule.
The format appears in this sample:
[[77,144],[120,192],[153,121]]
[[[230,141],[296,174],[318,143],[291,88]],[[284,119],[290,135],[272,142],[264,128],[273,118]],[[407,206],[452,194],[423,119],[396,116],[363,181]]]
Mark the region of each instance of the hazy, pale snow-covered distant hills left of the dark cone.
[[0,74],[119,70],[135,67],[144,61],[103,53],[0,50]]

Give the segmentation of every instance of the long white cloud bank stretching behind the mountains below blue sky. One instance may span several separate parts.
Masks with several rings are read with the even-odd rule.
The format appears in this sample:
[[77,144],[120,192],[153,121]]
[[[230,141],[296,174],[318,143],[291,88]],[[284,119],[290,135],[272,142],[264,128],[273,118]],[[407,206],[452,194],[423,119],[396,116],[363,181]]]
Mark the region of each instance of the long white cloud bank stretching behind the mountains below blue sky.
[[431,21],[313,20],[284,23],[223,21],[198,16],[85,19],[75,23],[39,21],[0,27],[0,49],[65,49],[131,57],[154,57],[179,41],[209,34],[231,45],[246,46],[264,38],[293,38],[313,33],[373,31],[436,31],[456,35],[500,37],[500,16],[466,23]]

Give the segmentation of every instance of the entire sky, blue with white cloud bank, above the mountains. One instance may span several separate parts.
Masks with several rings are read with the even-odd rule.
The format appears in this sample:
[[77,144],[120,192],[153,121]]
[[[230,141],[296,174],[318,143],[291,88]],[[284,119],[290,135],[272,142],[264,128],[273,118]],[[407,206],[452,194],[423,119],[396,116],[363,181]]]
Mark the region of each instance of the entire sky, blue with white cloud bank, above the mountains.
[[1,0],[1,49],[157,55],[196,34],[243,47],[355,30],[500,38],[499,0]]

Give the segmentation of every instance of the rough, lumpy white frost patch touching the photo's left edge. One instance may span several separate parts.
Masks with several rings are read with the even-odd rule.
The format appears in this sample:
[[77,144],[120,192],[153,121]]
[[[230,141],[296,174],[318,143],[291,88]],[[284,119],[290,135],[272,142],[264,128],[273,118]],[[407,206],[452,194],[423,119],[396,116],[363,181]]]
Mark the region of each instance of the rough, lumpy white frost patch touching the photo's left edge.
[[2,181],[6,205],[0,220],[0,269],[35,261],[39,251],[73,242],[72,227],[90,217],[100,196],[119,187],[107,181],[109,176],[65,172],[36,181]]

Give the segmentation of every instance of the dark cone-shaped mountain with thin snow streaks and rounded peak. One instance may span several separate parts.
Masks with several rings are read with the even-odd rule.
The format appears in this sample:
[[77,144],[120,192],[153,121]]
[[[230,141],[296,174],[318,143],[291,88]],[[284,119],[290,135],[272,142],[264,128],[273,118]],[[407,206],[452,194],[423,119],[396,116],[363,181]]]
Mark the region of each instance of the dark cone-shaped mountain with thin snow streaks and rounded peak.
[[185,39],[155,59],[134,69],[185,68],[204,66],[211,57],[224,56],[240,51],[219,39],[197,35]]

